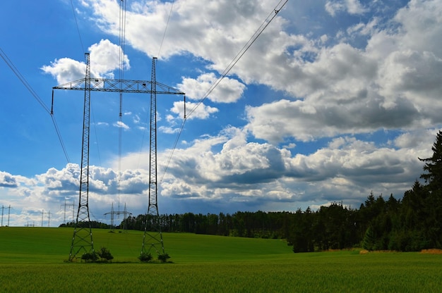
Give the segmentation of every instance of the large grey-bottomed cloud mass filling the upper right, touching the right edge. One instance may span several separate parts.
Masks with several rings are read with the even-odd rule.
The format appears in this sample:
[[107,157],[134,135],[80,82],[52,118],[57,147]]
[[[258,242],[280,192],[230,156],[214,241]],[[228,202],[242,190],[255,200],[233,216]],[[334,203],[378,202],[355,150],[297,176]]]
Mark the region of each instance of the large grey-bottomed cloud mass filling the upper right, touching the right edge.
[[[435,45],[442,32],[435,22],[442,8],[436,2],[411,1],[396,14],[392,30],[374,30],[375,24],[369,24],[365,49],[345,43],[323,46],[313,60],[287,59],[286,70],[265,70],[280,83],[263,82],[302,99],[246,108],[249,130],[277,143],[285,137],[306,141],[441,123],[441,50]],[[417,14],[419,19],[412,17]],[[434,25],[424,30],[424,23]],[[410,42],[416,38],[422,42]]]

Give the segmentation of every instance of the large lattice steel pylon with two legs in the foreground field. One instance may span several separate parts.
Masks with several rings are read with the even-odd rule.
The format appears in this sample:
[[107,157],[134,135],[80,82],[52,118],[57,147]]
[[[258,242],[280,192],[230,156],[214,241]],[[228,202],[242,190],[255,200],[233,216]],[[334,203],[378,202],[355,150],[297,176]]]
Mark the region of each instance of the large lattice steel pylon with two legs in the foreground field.
[[[104,78],[91,78],[90,77],[90,56],[88,53],[85,54],[86,57],[86,75],[85,78],[80,80],[75,80],[73,82],[67,82],[63,85],[57,85],[52,87],[52,108],[51,114],[53,114],[54,109],[54,89],[71,89],[71,90],[81,90],[85,92],[85,102],[83,111],[83,144],[81,153],[81,172],[80,172],[80,193],[78,202],[78,213],[76,218],[76,225],[73,230],[71,252],[69,253],[69,261],[73,261],[80,251],[84,253],[94,252],[93,241],[92,241],[92,228],[90,226],[90,216],[89,216],[89,135],[90,135],[90,92],[119,92],[119,93],[137,93],[137,94],[150,94],[150,180],[149,180],[149,206],[148,214],[154,214],[155,218],[158,216],[158,204],[157,204],[157,180],[156,180],[156,170],[157,170],[157,116],[156,116],[156,106],[157,106],[157,94],[179,94],[184,95],[184,92],[180,92],[178,89],[163,85],[157,82],[155,79],[155,62],[157,58],[152,60],[152,77],[151,81],[145,80],[114,80],[114,79],[104,79]],[[157,90],[160,89],[160,90]],[[154,113],[154,114],[153,114]],[[154,131],[154,132],[153,132]],[[155,144],[153,144],[155,141]],[[155,149],[154,151],[152,149]],[[155,154],[155,160],[152,160],[152,154]],[[152,166],[155,164],[155,166]],[[153,180],[152,170],[155,170],[155,180]],[[151,197],[150,189],[155,185],[155,197]],[[155,206],[155,208],[151,208]],[[152,210],[152,211],[151,211]],[[162,246],[162,251],[164,254],[164,244],[162,242],[162,235],[160,229],[159,220],[153,222],[156,227],[155,230],[160,231],[160,243]],[[87,227],[86,227],[87,226]],[[148,235],[145,231],[143,236],[143,249],[145,247],[145,238]],[[152,237],[157,239],[156,237]],[[154,244],[151,247],[155,247]],[[144,251],[144,250],[143,250]]]

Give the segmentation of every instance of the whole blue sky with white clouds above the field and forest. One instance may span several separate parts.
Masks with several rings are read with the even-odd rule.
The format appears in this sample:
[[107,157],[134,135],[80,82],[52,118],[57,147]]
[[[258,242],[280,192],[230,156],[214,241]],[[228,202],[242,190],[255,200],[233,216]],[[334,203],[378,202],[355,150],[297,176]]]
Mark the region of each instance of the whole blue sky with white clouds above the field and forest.
[[[157,81],[194,109],[165,172],[184,101],[157,96],[160,213],[359,207],[422,173],[442,122],[442,1],[288,1],[203,99],[278,5],[126,1],[124,78],[150,80],[157,57]],[[92,77],[119,77],[119,15],[117,0],[5,1],[2,57],[50,108],[52,87],[84,77],[85,51]],[[59,225],[78,204],[84,94],[54,92],[66,158],[45,107],[0,68],[0,205],[10,225]],[[119,124],[119,94],[91,94],[93,220],[148,207],[149,99],[124,94]]]

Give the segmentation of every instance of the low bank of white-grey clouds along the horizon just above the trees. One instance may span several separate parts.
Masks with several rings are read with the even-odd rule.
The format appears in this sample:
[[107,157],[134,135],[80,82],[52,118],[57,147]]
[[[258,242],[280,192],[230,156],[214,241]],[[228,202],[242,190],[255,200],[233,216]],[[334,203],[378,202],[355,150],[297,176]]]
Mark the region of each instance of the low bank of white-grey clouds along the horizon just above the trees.
[[[170,150],[158,153],[162,211],[172,208],[165,206],[167,198],[173,198],[175,207],[192,200],[193,208],[222,202],[222,206],[241,204],[242,210],[271,206],[294,211],[336,200],[357,206],[370,190],[400,196],[421,173],[417,157],[429,156],[435,133],[405,132],[390,147],[337,137],[312,154],[302,155],[248,142],[247,132],[228,127],[216,137],[201,137],[185,149],[175,149],[167,173],[163,171]],[[117,162],[113,168],[90,166],[92,213],[107,212],[112,203],[127,203],[129,211],[145,212],[149,176],[143,162],[148,162],[148,153],[123,156],[121,169]],[[6,189],[6,194],[0,187],[0,194],[6,204],[20,210],[22,222],[24,218],[40,220],[44,209],[54,213],[54,223],[60,223],[64,216],[60,206],[66,199],[78,200],[79,175],[79,166],[72,164],[61,170],[50,168],[35,179],[16,176],[20,184]]]

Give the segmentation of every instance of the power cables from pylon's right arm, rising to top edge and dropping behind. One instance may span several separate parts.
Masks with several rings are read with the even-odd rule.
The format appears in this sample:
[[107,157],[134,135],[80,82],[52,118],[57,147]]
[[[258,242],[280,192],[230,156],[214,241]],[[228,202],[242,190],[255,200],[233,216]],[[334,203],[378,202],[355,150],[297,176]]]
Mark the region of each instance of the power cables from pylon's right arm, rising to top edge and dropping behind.
[[[200,106],[203,101],[205,101],[205,99],[208,98],[209,94],[213,92],[213,90],[217,87],[217,85],[220,84],[220,82],[224,79],[224,77],[227,76],[227,74],[230,72],[230,70],[232,70],[232,68],[238,63],[239,59],[241,59],[242,56],[244,56],[244,54],[246,53],[247,50],[249,50],[250,46],[256,41],[256,39],[258,39],[258,37],[262,34],[262,32],[265,30],[266,27],[268,27],[268,25],[270,25],[270,23],[272,22],[273,18],[276,17],[277,13],[280,12],[280,10],[285,6],[285,4],[287,4],[288,0],[285,0],[284,3],[281,5],[283,0],[280,0],[278,2],[278,4],[275,6],[275,8],[273,8],[273,11],[271,11],[269,13],[269,15],[267,16],[267,18],[265,18],[265,20],[263,21],[263,23],[258,27],[258,29],[256,30],[256,32],[251,36],[251,38],[249,39],[249,41],[244,44],[244,46],[242,47],[242,49],[238,52],[237,56],[235,56],[233,58],[233,60],[229,63],[229,65],[227,66],[227,68],[225,68],[225,70],[222,72],[222,74],[220,75],[220,77],[217,78],[217,80],[213,83],[212,86],[210,86],[210,88],[205,92],[205,94],[203,95],[203,98],[201,98],[200,101],[198,101],[198,104],[196,104],[196,106],[194,106],[191,111],[189,112],[189,114],[187,114],[186,116],[184,116],[183,122],[181,123],[181,127],[179,128],[179,132],[177,135],[177,139],[175,139],[174,142],[174,146],[172,148],[171,154],[167,160],[166,163],[166,167],[165,167],[165,172],[162,174],[161,180],[160,182],[162,182],[162,179],[164,178],[167,168],[169,167],[169,163],[172,160],[172,156],[174,154],[175,149],[177,148],[177,144],[179,141],[179,137],[181,136],[181,132],[184,129],[184,124],[186,123],[187,118],[189,118],[189,116],[196,110],[196,108],[198,108],[198,106]],[[184,104],[186,103],[186,101],[184,101]],[[184,105],[185,107],[186,105]]]

